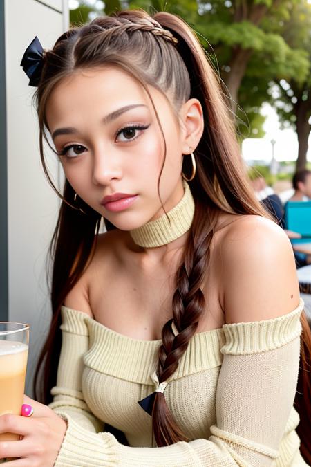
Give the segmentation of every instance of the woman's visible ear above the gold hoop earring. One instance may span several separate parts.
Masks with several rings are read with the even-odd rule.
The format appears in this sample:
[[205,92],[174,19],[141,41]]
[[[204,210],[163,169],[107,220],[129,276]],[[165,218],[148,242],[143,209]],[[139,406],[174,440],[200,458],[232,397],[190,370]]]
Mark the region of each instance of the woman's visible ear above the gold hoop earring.
[[200,101],[191,98],[182,104],[180,118],[182,120],[182,153],[190,154],[198,146],[204,130]]

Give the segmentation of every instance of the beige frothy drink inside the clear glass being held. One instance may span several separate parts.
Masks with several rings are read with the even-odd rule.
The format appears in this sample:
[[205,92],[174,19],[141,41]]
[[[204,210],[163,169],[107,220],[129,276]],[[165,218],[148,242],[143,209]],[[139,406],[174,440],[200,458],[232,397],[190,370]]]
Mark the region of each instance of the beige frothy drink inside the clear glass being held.
[[[0,340],[0,415],[21,414],[25,388],[28,345]],[[19,434],[2,433],[0,441],[15,441]]]

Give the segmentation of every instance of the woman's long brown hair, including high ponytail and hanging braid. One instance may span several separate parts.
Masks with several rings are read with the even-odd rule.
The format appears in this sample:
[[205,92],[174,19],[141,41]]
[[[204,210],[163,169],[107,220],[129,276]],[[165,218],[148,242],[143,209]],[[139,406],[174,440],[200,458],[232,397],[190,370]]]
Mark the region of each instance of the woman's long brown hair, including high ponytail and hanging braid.
[[[174,38],[178,39],[177,44]],[[201,287],[209,268],[211,239],[220,212],[258,214],[265,217],[269,217],[269,214],[257,201],[247,181],[241,150],[236,140],[234,120],[225,102],[218,75],[209,65],[204,49],[191,28],[178,16],[167,12],[158,12],[150,17],[142,10],[132,10],[119,12],[113,17],[98,17],[90,24],[68,30],[57,39],[53,50],[46,52],[35,98],[39,116],[41,160],[48,178],[43,138],[48,143],[45,111],[50,92],[76,69],[106,64],[118,66],[135,77],[150,99],[148,85],[169,95],[176,113],[185,100],[190,97],[198,98],[205,120],[204,132],[195,153],[196,177],[190,183],[196,205],[194,220],[182,262],[176,271],[173,318],[162,329],[158,360],[158,378],[162,382],[176,371],[178,361],[194,336],[200,315],[205,309]],[[151,103],[156,111],[152,99]],[[158,113],[156,116],[158,118]],[[158,124],[162,131],[159,118]],[[50,183],[53,184],[51,180]],[[73,205],[74,194],[73,188],[66,182],[50,248],[53,259],[53,319],[39,358],[34,383],[35,396],[44,403],[51,401],[50,389],[56,383],[62,344],[60,308],[93,255],[100,226],[100,214],[82,200],[79,201],[79,207],[86,214],[76,209]],[[108,222],[106,225],[113,228]],[[178,329],[177,336],[172,331],[172,322]],[[302,324],[299,387],[303,391],[303,397],[298,397],[295,401],[301,416],[299,427],[305,427],[311,416],[310,376],[307,372],[310,368],[311,336],[304,315]],[[39,379],[40,368],[41,371],[43,369],[43,378]],[[43,384],[40,386],[38,381],[43,381]],[[301,452],[310,461],[307,432],[305,429],[299,430]],[[156,394],[153,406],[153,434],[158,446],[187,440],[169,412],[161,393]]]

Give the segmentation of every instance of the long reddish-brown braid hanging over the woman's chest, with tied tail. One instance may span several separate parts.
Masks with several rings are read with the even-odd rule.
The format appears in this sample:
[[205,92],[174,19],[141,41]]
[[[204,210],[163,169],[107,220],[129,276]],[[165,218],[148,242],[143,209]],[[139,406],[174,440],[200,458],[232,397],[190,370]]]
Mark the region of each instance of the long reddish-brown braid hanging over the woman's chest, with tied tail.
[[[158,354],[159,383],[167,381],[178,368],[178,362],[185,353],[189,340],[194,336],[200,316],[205,309],[205,298],[201,286],[209,264],[212,231],[205,229],[205,222],[198,220],[204,219],[202,212],[200,203],[197,203],[183,262],[176,273],[177,287],[172,300],[173,318],[164,324],[162,345]],[[198,228],[201,228],[200,232]],[[178,331],[176,336],[172,329],[173,323]],[[177,441],[189,441],[173,420],[164,394],[160,392],[156,393],[152,416],[153,432],[158,446],[169,445]]]

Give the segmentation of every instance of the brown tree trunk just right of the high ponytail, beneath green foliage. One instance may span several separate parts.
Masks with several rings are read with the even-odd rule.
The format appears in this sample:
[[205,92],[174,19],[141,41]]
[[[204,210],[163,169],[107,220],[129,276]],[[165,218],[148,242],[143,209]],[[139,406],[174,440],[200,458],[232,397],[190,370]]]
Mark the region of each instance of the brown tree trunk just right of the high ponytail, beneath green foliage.
[[246,67],[249,58],[252,56],[252,51],[249,49],[236,47],[232,51],[232,58],[229,62],[229,73],[223,74],[223,80],[229,91],[229,104],[232,111],[236,113],[238,102],[238,89],[241,86],[241,81],[245,75]]

